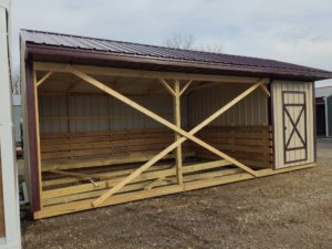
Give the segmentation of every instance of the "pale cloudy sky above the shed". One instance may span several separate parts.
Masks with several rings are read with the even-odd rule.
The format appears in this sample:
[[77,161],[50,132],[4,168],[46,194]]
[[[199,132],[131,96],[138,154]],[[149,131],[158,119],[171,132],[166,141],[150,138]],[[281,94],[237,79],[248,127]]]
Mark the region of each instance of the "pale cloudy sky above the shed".
[[33,29],[157,45],[193,35],[197,48],[332,71],[332,0],[12,0],[11,14],[15,64],[19,30]]

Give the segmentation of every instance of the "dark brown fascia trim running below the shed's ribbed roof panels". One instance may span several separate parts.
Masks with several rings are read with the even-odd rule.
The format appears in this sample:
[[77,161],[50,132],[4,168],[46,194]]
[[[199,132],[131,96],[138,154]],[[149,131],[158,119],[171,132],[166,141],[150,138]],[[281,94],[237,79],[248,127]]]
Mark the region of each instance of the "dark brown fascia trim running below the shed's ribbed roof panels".
[[199,70],[204,73],[204,70],[216,70],[220,71],[220,74],[227,72],[230,74],[241,73],[242,75],[261,75],[261,76],[273,76],[274,79],[298,79],[298,80],[309,80],[319,81],[332,79],[332,73],[324,72],[309,72],[309,71],[293,71],[293,70],[282,70],[273,68],[258,68],[258,66],[245,66],[245,65],[227,65],[220,63],[210,62],[193,62],[193,61],[180,61],[172,59],[155,59],[147,56],[129,55],[124,53],[110,53],[96,50],[83,50],[83,49],[71,49],[71,48],[60,48],[44,44],[32,44],[27,43],[27,54],[25,59],[31,59],[34,55],[41,56],[62,56],[64,61],[70,61],[72,63],[75,60],[91,60],[93,61],[104,61],[104,62],[127,62],[136,64],[151,64],[157,66],[178,66],[183,69],[191,69],[193,71]]

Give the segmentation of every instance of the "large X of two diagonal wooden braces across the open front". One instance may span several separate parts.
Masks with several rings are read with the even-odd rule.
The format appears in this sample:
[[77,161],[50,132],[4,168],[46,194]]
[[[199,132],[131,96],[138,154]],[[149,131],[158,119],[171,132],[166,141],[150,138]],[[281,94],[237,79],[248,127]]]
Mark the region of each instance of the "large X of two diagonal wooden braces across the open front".
[[204,141],[197,138],[194,135],[197,132],[199,132],[201,128],[204,128],[206,125],[208,125],[209,123],[211,123],[212,121],[215,121],[217,117],[219,117],[222,113],[225,113],[231,106],[234,106],[239,101],[241,101],[243,97],[246,97],[248,94],[250,94],[251,92],[253,92],[256,89],[261,87],[261,85],[263,85],[264,83],[267,83],[267,79],[262,79],[262,80],[258,81],[257,83],[255,83],[253,85],[251,85],[248,90],[246,90],[245,92],[242,92],[241,94],[239,94],[236,98],[234,98],[228,104],[226,104],[220,110],[218,110],[212,115],[210,115],[208,118],[206,118],[205,121],[203,121],[196,127],[194,127],[189,132],[186,132],[186,131],[179,128],[178,126],[174,125],[173,123],[168,122],[167,120],[165,120],[165,118],[158,116],[157,114],[153,113],[152,111],[143,107],[142,105],[137,104],[136,102],[132,101],[131,98],[128,98],[128,97],[122,95],[121,93],[114,91],[113,89],[106,86],[102,82],[100,82],[100,81],[97,81],[97,80],[89,76],[87,74],[85,74],[85,73],[76,70],[75,68],[73,68],[71,65],[68,65],[65,69],[66,69],[68,72],[73,73],[74,75],[76,75],[77,77],[84,80],[85,82],[87,82],[87,83],[96,86],[97,89],[102,90],[103,92],[108,93],[113,97],[122,101],[123,103],[132,106],[133,108],[137,110],[138,112],[142,112],[143,114],[149,116],[151,118],[153,118],[153,120],[155,120],[155,121],[164,124],[165,126],[167,126],[168,128],[173,129],[174,132],[183,135],[183,137],[180,137],[179,139],[175,141],[167,148],[165,148],[164,151],[162,151],[159,154],[157,154],[156,156],[154,156],[151,160],[148,160],[143,166],[141,166],[135,172],[133,172],[131,175],[128,175],[126,178],[124,178],[121,183],[118,183],[113,188],[111,188],[108,191],[106,191],[101,197],[98,197],[96,200],[94,200],[92,203],[93,207],[100,206],[108,197],[111,197],[112,195],[114,195],[115,193],[117,193],[126,184],[131,183],[133,179],[135,179],[137,176],[139,176],[143,172],[145,172],[146,169],[148,169],[156,162],[158,162],[159,159],[162,159],[164,156],[166,156],[168,153],[170,153],[173,149],[175,149],[178,145],[180,145],[181,143],[184,143],[187,139],[190,139],[190,141],[195,142],[196,144],[203,146],[204,148],[210,151],[211,153],[220,156],[221,158],[225,158],[225,159],[229,160],[234,165],[242,168],[245,172],[247,172],[247,173],[249,173],[249,174],[251,174],[253,176],[257,176],[257,173],[255,170],[252,170],[251,168],[247,167],[242,163],[240,163],[237,159],[228,156],[227,154],[218,151],[217,148],[212,147],[211,145],[205,143]]

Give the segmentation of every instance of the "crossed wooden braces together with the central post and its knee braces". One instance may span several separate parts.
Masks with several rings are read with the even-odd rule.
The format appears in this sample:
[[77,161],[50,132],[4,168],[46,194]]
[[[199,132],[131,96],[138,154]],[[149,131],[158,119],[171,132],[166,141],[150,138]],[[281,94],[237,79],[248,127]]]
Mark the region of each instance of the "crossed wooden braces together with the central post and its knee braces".
[[[201,139],[195,137],[195,133],[199,132],[201,128],[204,128],[206,125],[208,125],[209,123],[211,123],[214,120],[216,120],[218,116],[220,116],[222,113],[225,113],[227,110],[229,110],[231,106],[234,106],[236,103],[238,103],[239,101],[241,101],[243,97],[246,97],[247,95],[249,95],[252,91],[255,91],[257,87],[260,87],[261,85],[263,85],[267,80],[262,79],[259,80],[256,84],[253,84],[252,86],[250,86],[247,91],[245,91],[243,93],[241,93],[239,96],[237,96],[235,100],[232,100],[231,102],[229,102],[227,105],[225,105],[224,107],[221,107],[220,110],[218,110],[217,112],[215,112],[211,116],[209,116],[208,118],[206,118],[204,122],[201,122],[199,125],[197,125],[195,128],[193,128],[190,132],[185,132],[184,129],[181,129],[179,127],[178,124],[180,124],[179,122],[179,97],[180,97],[180,93],[184,93],[185,90],[190,85],[191,80],[189,80],[189,82],[184,86],[183,90],[179,89],[179,80],[175,80],[175,87],[174,90],[168,85],[168,83],[164,80],[164,79],[159,79],[159,81],[162,82],[162,84],[175,96],[175,121],[176,121],[176,125],[169,123],[168,121],[166,121],[165,118],[158,116],[157,114],[151,112],[149,110],[146,110],[145,107],[141,106],[139,104],[135,103],[134,101],[127,98],[126,96],[120,94],[118,92],[112,90],[111,87],[106,86],[105,84],[98,82],[97,80],[89,76],[87,74],[83,73],[82,71],[71,66],[71,65],[66,65],[64,68],[64,70],[66,72],[73,73],[74,75],[76,75],[77,77],[82,79],[83,81],[96,86],[97,89],[108,93],[110,95],[112,95],[113,97],[124,102],[125,104],[132,106],[133,108],[144,113],[145,115],[152,117],[153,120],[164,124],[165,126],[167,126],[168,128],[173,129],[177,135],[176,135],[176,141],[169,145],[167,148],[165,148],[164,151],[162,151],[159,154],[157,154],[154,158],[152,158],[151,160],[148,160],[146,164],[144,164],[142,167],[137,168],[134,173],[132,173],[129,176],[127,176],[123,181],[118,183],[116,186],[114,186],[113,188],[111,188],[108,191],[106,191],[105,194],[103,194],[101,197],[98,197],[96,200],[94,200],[92,203],[93,207],[97,207],[100,206],[102,203],[104,203],[107,198],[110,198],[112,195],[114,195],[115,193],[117,193],[121,188],[123,188],[126,184],[131,183],[133,179],[135,179],[137,176],[139,176],[143,172],[145,172],[146,169],[148,169],[151,166],[153,166],[156,162],[158,162],[159,159],[162,159],[164,156],[166,156],[168,153],[170,153],[173,149],[177,148],[177,178],[178,178],[178,183],[181,184],[181,152],[180,152],[180,145],[181,143],[184,143],[186,139],[190,139],[195,143],[197,143],[198,145],[205,147],[206,149],[210,151],[211,153],[220,156],[221,158],[225,158],[227,160],[229,160],[230,163],[235,164],[236,166],[242,168],[245,172],[248,172],[249,174],[256,176],[255,170],[252,170],[251,168],[247,167],[246,165],[241,164],[240,162],[236,160],[235,158],[228,156],[227,154],[218,151],[217,148],[212,147],[211,145],[203,142]],[[56,71],[56,69],[54,70]],[[53,72],[53,71],[51,71]],[[181,138],[179,138],[179,136],[183,135]]]

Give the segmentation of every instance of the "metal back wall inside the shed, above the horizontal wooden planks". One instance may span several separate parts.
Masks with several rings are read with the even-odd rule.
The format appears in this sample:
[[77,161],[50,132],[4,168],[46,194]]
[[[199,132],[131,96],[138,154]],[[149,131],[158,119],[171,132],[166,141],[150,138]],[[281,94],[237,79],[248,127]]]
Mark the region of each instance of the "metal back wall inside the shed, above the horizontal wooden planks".
[[[170,95],[128,96],[173,122]],[[183,126],[187,125],[187,101],[183,98]],[[40,132],[95,132],[154,128],[164,125],[107,95],[41,95]]]

